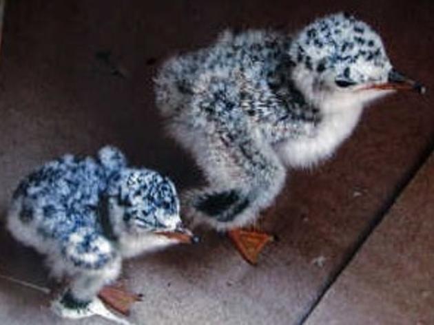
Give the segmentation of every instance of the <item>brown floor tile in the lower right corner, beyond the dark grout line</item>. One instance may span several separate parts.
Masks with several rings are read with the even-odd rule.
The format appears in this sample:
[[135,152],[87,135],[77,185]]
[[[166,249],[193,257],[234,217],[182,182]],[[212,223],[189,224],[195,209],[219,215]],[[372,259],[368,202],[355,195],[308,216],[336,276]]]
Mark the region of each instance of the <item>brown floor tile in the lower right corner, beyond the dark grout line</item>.
[[306,325],[434,324],[434,155]]

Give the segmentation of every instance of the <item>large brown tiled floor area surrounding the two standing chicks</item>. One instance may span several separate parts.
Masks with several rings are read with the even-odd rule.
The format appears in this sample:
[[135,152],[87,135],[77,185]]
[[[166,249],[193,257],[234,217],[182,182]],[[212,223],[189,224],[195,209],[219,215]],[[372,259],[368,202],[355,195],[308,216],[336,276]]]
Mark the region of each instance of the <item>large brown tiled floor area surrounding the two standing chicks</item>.
[[[380,30],[396,67],[433,88],[431,1],[9,1],[0,58],[0,211],[33,167],[105,143],[136,165],[165,172],[180,189],[200,182],[193,161],[161,129],[152,92],[158,64],[227,27],[294,30],[337,10]],[[110,64],[96,55],[107,51]],[[214,233],[196,247],[128,262],[127,285],[145,295],[132,321],[300,323],[431,151],[431,98],[398,94],[375,104],[333,160],[294,172],[265,213],[265,228],[281,240],[256,268]],[[2,238],[1,268],[45,283],[37,255]],[[46,304],[45,296],[0,280],[0,324],[70,324]]]

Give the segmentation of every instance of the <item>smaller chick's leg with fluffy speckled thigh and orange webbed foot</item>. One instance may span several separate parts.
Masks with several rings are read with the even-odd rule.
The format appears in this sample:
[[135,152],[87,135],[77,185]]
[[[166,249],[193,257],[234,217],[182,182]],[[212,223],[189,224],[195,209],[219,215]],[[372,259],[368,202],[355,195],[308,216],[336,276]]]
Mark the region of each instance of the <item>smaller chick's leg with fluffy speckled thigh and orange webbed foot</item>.
[[92,308],[103,308],[103,304],[96,304],[99,295],[114,310],[127,313],[130,304],[136,301],[130,299],[132,295],[121,288],[116,288],[116,291],[111,287],[103,289],[121,272],[121,257],[111,242],[94,229],[83,227],[65,238],[62,254],[61,260],[67,263],[68,269],[76,272],[68,290],[54,304],[59,307],[55,311],[64,317],[93,315]]

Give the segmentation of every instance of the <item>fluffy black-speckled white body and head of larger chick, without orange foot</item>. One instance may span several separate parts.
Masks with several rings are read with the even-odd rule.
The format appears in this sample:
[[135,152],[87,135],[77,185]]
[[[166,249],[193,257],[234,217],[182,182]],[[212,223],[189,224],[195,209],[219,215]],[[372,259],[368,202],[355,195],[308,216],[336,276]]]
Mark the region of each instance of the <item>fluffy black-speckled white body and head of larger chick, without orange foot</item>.
[[187,216],[220,230],[253,223],[288,168],[329,158],[364,105],[398,83],[423,90],[393,70],[369,25],[342,13],[294,35],[227,31],[170,59],[156,78],[157,105],[208,182],[185,193]]

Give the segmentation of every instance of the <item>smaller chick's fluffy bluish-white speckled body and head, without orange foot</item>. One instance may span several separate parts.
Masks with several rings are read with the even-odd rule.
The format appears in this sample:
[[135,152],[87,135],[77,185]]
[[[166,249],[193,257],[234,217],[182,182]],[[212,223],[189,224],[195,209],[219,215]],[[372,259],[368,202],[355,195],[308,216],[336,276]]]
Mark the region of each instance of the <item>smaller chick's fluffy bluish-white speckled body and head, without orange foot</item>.
[[72,282],[56,308],[85,317],[121,261],[179,242],[163,233],[183,232],[174,184],[155,171],[127,167],[114,147],[98,157],[65,155],[25,178],[8,213],[10,233],[46,255],[56,278]]

